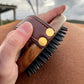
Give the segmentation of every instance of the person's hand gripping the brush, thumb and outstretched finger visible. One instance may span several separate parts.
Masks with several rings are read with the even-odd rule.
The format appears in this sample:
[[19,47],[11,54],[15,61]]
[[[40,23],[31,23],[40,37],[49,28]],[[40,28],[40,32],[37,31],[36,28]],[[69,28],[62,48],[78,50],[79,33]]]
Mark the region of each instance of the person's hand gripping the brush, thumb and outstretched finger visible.
[[[49,22],[53,17],[60,15],[65,6],[60,6],[40,14],[38,17]],[[16,30],[11,31],[0,46],[0,84],[15,84],[18,77],[18,66],[16,61],[20,50],[31,37],[33,27],[29,22],[22,24]]]

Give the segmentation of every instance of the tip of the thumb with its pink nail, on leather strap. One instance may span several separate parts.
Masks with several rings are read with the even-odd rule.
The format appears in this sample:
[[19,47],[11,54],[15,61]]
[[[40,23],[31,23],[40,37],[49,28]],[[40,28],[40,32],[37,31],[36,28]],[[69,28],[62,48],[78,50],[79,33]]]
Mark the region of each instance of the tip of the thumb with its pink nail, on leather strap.
[[30,22],[25,22],[17,28],[17,30],[19,30],[23,33],[26,33],[26,34],[30,33],[32,31],[32,29],[33,29],[33,26]]

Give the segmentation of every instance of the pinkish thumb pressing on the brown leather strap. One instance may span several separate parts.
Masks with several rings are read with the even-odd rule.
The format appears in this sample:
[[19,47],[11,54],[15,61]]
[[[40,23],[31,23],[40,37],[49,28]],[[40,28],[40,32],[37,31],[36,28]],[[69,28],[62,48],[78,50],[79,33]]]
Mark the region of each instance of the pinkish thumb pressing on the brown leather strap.
[[24,47],[32,32],[33,27],[29,22],[23,23],[16,30],[10,32],[0,46],[0,59],[2,58],[3,62],[14,62],[17,53]]

